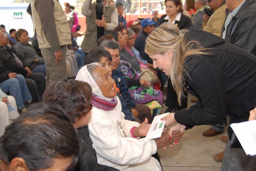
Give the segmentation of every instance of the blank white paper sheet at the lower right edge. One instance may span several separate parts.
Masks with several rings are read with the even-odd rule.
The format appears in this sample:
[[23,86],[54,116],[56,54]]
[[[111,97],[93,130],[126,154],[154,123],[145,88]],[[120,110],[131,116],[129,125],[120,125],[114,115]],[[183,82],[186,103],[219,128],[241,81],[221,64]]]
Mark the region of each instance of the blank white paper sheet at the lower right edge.
[[236,133],[244,152],[247,155],[256,155],[256,120],[233,123],[230,127]]

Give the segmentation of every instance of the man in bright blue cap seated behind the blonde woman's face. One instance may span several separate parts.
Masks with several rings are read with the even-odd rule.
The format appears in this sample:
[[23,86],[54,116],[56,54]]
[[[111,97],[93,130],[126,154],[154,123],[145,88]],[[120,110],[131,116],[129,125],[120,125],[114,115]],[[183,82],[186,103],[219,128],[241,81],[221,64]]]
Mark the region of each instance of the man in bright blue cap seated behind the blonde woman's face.
[[148,63],[153,63],[152,59],[149,58],[148,54],[145,53],[145,43],[146,43],[146,38],[148,35],[154,30],[154,25],[156,23],[152,21],[152,19],[147,18],[147,19],[142,19],[141,20],[141,27],[142,27],[142,32],[138,35],[138,37],[135,40],[135,49],[137,49],[141,57],[144,60],[147,60]]

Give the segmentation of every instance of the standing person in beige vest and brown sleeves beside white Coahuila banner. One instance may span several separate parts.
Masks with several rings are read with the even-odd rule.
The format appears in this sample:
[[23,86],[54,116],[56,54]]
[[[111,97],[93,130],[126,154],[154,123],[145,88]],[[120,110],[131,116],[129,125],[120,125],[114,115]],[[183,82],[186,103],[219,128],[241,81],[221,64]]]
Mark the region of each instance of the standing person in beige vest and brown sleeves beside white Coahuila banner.
[[31,0],[39,48],[46,65],[47,85],[67,80],[66,45],[72,44],[67,17],[58,0]]

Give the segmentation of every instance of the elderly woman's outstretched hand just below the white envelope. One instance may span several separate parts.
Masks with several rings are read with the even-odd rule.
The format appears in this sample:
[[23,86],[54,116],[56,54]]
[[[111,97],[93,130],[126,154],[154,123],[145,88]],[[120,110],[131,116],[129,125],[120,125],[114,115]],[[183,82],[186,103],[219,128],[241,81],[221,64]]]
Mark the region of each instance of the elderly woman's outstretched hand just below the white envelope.
[[169,136],[168,133],[162,133],[162,136],[158,139],[155,139],[157,148],[164,148],[171,146],[175,141],[182,138],[183,133],[180,130],[174,131],[172,136]]

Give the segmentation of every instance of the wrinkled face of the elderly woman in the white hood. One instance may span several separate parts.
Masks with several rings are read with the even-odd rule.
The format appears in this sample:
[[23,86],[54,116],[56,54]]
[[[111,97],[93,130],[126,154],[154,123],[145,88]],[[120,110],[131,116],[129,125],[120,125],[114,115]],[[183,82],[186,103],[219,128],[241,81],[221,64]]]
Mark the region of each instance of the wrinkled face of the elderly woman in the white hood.
[[113,98],[116,96],[115,81],[109,76],[107,69],[99,66],[93,70],[92,76],[105,97]]

